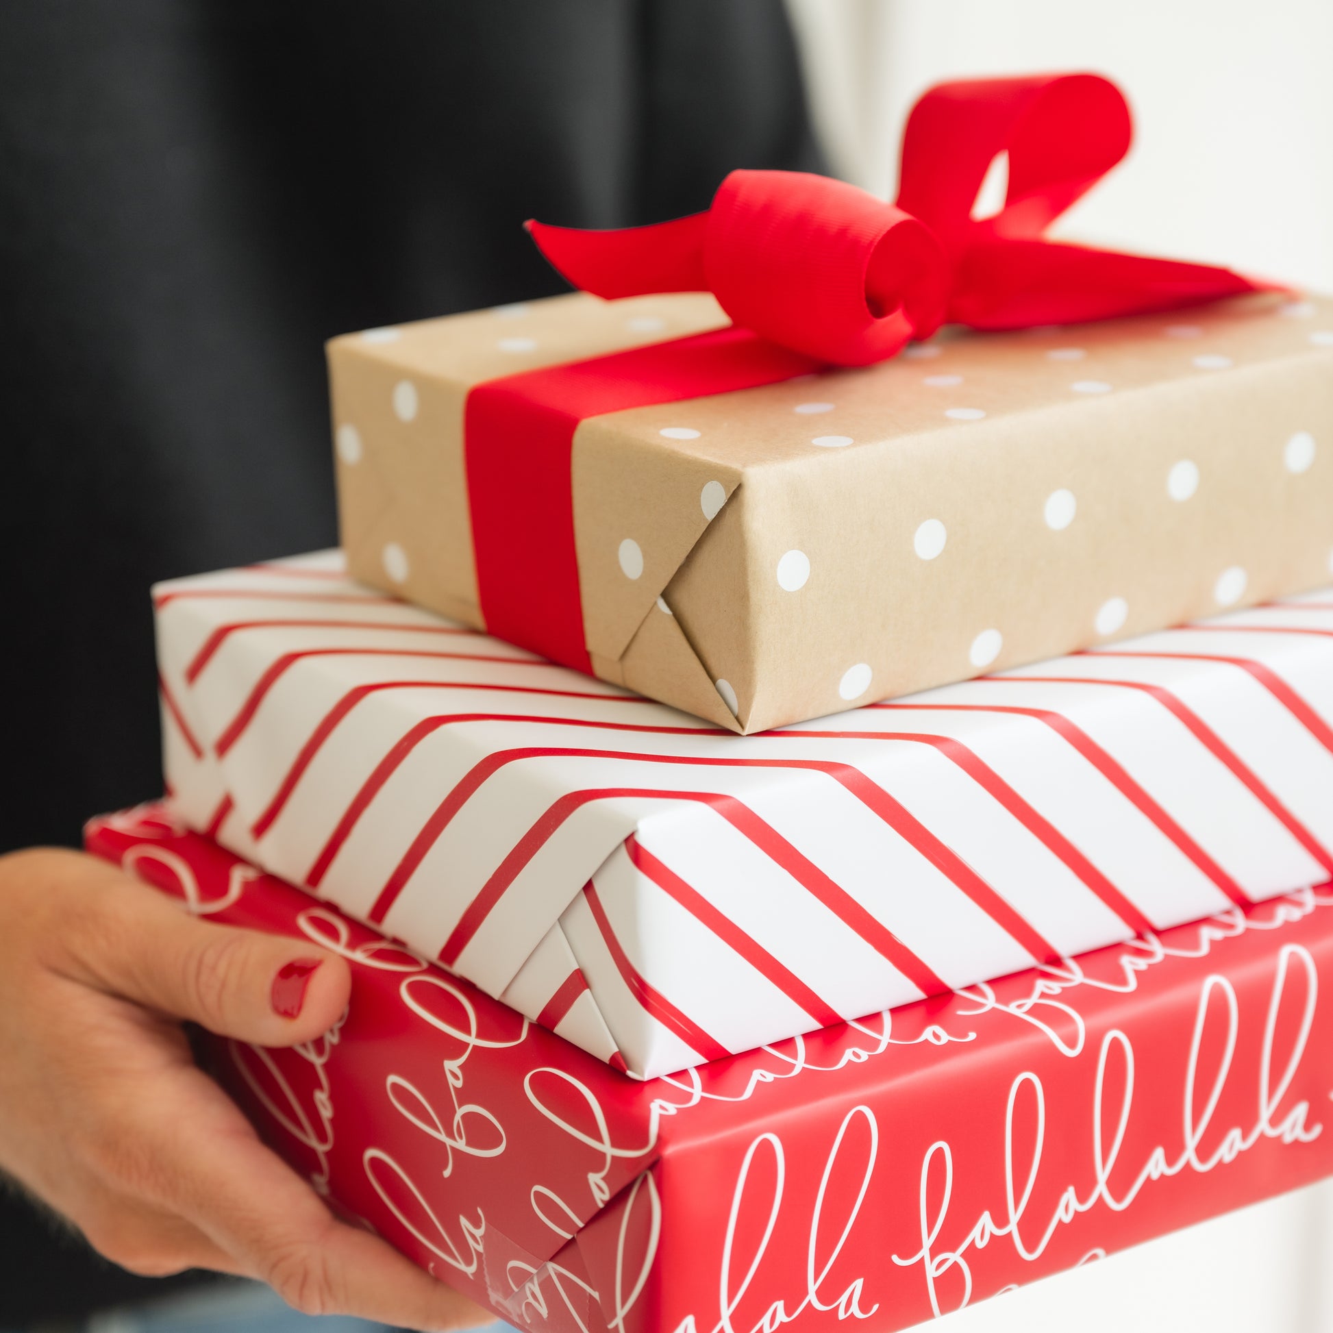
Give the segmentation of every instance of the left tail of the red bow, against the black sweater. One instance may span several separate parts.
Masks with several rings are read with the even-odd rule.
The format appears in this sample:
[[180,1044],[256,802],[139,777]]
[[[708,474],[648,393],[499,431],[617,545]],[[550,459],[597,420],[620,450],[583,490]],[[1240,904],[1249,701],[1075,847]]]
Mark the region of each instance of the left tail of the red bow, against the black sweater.
[[608,300],[651,292],[706,292],[706,225],[708,213],[605,232],[527,224],[537,249],[561,277]]

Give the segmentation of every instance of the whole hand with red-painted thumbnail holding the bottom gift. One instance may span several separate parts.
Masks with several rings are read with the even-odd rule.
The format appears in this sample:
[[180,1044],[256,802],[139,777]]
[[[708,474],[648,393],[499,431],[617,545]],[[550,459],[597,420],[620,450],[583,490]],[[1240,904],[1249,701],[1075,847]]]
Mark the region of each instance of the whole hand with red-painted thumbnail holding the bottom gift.
[[136,1273],[257,1277],[309,1314],[489,1322],[337,1221],[191,1060],[181,1020],[289,1046],[349,986],[337,956],[197,921],[95,857],[0,857],[0,1168]]

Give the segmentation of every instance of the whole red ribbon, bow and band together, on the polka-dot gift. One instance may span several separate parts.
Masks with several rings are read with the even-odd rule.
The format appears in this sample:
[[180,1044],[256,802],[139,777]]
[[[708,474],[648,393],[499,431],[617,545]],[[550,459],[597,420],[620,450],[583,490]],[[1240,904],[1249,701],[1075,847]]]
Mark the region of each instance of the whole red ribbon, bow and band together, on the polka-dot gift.
[[[733,328],[471,392],[468,491],[488,629],[591,669],[569,480],[588,416],[868,365],[945,320],[1066,324],[1261,289],[1225,268],[1046,239],[1129,141],[1125,99],[1096,75],[949,83],[912,111],[896,204],[824,176],[734,171],[706,212],[674,221],[609,232],[529,223],[576,287],[612,299],[708,291]],[[1005,204],[973,219],[1000,153]]]

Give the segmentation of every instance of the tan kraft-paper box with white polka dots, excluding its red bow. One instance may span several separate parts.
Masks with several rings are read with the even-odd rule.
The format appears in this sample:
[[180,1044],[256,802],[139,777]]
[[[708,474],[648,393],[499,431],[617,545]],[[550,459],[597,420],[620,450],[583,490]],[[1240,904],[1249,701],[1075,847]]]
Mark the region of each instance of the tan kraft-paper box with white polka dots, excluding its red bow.
[[[694,395],[616,408],[651,344],[725,323],[706,295],[580,293],[335,339],[353,575],[740,732],[1328,580],[1330,301],[938,336],[726,393],[728,348],[676,341]],[[467,452],[571,417],[563,479]],[[572,533],[505,527],[569,487]],[[485,613],[479,559],[525,600]]]

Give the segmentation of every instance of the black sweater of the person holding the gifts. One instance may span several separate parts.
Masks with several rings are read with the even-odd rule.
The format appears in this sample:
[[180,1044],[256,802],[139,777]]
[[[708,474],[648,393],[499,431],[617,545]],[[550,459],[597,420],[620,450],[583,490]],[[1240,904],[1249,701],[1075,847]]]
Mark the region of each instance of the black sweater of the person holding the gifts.
[[[333,544],[324,339],[733,167],[820,169],[780,0],[4,0],[0,850],[160,790],[153,580]],[[0,1326],[147,1289],[0,1204]]]

